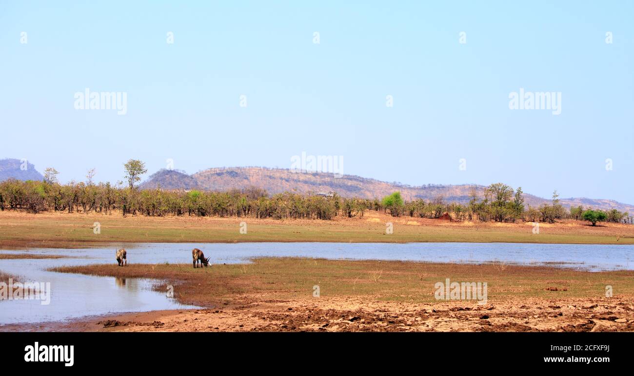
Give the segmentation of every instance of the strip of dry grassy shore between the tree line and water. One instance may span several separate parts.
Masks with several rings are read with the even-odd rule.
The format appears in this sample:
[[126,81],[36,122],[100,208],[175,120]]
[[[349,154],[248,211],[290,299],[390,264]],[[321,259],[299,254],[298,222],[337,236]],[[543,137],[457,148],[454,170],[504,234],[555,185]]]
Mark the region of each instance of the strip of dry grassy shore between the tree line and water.
[[[248,233],[240,234],[246,221]],[[93,224],[101,233],[93,233]],[[385,234],[385,223],[394,233]],[[412,225],[411,223],[418,225]],[[410,223],[410,224],[408,224]],[[588,226],[578,221],[531,223],[460,223],[439,219],[391,217],[366,212],[363,218],[255,219],[219,217],[122,217],[119,214],[28,214],[0,212],[0,246],[74,248],[108,242],[521,242],[633,244],[634,226]]]

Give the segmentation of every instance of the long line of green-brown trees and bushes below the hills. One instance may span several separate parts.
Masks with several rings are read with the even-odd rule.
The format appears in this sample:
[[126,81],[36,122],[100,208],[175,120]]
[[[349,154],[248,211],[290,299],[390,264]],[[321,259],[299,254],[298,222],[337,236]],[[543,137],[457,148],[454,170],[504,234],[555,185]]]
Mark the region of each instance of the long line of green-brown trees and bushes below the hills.
[[469,202],[460,204],[444,202],[443,197],[425,201],[403,200],[397,191],[379,200],[344,198],[334,195],[301,195],[278,193],[268,195],[260,188],[249,187],[229,191],[166,191],[159,188],[141,190],[136,186],[140,176],[146,173],[145,165],[129,160],[125,165],[126,182],[93,183],[94,169],[88,172],[85,182],[61,185],[58,172],[46,169],[43,181],[18,181],[10,179],[0,183],[0,210],[25,210],[29,212],[97,212],[126,216],[237,216],[275,219],[332,219],[335,216],[363,217],[366,211],[384,211],[392,216],[439,218],[449,215],[458,221],[496,222],[548,222],[557,219],[578,219],[596,224],[598,221],[632,223],[628,213],[592,211],[583,207],[564,208],[557,191],[550,204],[531,207],[524,203],[522,188],[514,190],[503,183],[490,185],[480,197],[475,189]]

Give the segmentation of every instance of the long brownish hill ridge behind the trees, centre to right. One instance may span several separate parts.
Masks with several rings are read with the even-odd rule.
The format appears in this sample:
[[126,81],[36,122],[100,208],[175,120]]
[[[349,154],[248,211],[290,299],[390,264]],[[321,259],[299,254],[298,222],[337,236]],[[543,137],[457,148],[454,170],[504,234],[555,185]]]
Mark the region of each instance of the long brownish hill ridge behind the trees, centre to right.
[[[197,172],[193,175],[182,171],[161,170],[145,181],[141,188],[165,190],[199,189],[208,191],[225,191],[231,188],[247,188],[257,186],[275,194],[283,191],[297,193],[316,193],[320,190],[335,191],[342,197],[375,198],[384,197],[393,191],[401,191],[406,200],[423,198],[433,200],[443,197],[446,202],[469,202],[471,188],[475,188],[482,197],[485,186],[481,185],[424,185],[409,186],[399,183],[387,183],[360,176],[344,175],[335,178],[333,174],[321,172],[294,172],[288,169],[268,169],[264,167],[227,167],[213,168]],[[524,193],[524,201],[531,206],[548,203],[550,200]],[[634,213],[634,205],[623,204],[614,200],[597,200],[591,198],[562,198],[566,207],[583,205],[595,209],[617,209]]]

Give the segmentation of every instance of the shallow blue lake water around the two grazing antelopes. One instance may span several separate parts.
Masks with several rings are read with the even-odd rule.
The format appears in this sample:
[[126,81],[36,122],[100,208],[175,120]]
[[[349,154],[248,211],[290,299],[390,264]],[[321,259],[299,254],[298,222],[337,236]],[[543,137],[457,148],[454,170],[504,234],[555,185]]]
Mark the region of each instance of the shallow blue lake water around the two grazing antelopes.
[[[51,303],[0,301],[0,325],[60,321],[108,313],[194,308],[152,290],[152,281],[138,278],[54,273],[55,266],[116,263],[115,249],[126,248],[129,263],[169,262],[191,266],[191,249],[200,248],[211,263],[247,263],[253,257],[299,256],[327,259],[380,259],[453,263],[501,261],[552,265],[589,271],[634,269],[634,245],[523,243],[137,243],[107,248],[31,249],[34,254],[63,259],[0,259],[0,270],[22,281],[50,282]],[[3,253],[25,251],[0,250]]]

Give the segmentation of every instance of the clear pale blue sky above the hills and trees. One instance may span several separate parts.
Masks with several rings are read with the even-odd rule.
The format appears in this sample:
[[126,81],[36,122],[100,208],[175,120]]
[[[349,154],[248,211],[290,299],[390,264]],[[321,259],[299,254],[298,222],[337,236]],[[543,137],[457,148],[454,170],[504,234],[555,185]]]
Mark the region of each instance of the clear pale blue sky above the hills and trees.
[[[306,152],[634,203],[634,3],[437,3],[3,1],[0,158],[115,182],[130,158],[193,173]],[[85,88],[126,92],[126,115],[75,110]],[[520,88],[560,92],[561,114],[510,110]]]

